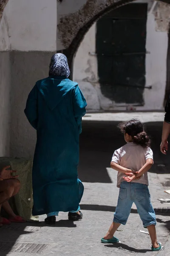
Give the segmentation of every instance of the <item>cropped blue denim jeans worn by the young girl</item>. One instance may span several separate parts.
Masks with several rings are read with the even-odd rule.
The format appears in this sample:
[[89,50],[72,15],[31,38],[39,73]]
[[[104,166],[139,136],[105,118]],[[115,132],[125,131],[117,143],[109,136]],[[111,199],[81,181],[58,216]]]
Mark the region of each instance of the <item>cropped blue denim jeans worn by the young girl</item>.
[[133,202],[136,204],[143,226],[156,225],[156,215],[150,202],[147,185],[126,181],[120,183],[119,198],[113,222],[125,225]]

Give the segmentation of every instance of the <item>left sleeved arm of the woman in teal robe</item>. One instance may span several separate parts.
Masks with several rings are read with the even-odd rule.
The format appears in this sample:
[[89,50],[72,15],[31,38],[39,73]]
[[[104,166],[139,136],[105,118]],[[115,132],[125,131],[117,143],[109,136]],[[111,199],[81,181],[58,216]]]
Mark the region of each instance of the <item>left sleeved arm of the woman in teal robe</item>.
[[37,117],[37,97],[38,97],[38,88],[35,85],[28,95],[28,99],[26,102],[26,109],[24,110],[24,113],[26,114],[26,117],[27,117],[29,123],[36,130],[37,130],[37,119],[38,119],[38,117]]

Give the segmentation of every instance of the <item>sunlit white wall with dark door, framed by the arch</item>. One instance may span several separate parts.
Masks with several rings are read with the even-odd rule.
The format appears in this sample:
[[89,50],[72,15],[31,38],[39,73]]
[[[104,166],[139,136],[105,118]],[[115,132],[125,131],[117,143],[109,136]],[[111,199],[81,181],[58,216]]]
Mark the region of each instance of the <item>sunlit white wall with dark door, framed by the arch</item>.
[[164,7],[151,1],[128,3],[91,26],[75,55],[73,77],[89,111],[163,110]]

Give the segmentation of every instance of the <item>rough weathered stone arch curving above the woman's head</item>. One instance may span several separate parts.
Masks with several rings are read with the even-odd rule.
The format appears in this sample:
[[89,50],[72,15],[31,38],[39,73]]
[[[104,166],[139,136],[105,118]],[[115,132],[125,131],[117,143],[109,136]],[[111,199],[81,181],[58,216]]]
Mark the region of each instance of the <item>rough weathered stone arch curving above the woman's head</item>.
[[[62,41],[62,51],[68,57],[68,63],[72,67],[74,54],[84,38],[88,29],[103,15],[134,0],[106,0],[101,3],[98,0],[87,0],[78,12],[62,17],[58,23],[59,39]],[[161,2],[170,3],[170,0]]]

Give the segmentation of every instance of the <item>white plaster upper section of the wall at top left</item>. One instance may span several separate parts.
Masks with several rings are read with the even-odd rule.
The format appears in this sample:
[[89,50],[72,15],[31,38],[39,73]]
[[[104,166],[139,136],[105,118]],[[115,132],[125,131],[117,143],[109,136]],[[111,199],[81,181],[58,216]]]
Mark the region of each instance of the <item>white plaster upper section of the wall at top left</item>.
[[56,51],[57,0],[9,0],[10,49]]

